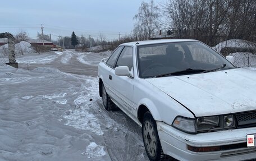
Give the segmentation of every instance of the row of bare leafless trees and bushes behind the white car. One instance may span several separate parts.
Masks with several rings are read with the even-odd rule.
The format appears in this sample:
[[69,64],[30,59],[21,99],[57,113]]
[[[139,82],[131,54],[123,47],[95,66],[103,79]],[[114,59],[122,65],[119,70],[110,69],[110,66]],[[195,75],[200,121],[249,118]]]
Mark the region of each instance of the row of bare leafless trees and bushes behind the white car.
[[227,39],[256,42],[254,0],[142,2],[134,19],[134,35],[140,40],[171,30],[176,38],[198,39],[208,45]]

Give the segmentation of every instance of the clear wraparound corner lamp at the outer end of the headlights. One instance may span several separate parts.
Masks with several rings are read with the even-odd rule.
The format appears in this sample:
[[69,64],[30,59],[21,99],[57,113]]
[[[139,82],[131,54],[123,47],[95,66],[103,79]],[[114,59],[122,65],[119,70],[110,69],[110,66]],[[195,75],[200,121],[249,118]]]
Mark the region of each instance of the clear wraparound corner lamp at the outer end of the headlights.
[[188,133],[194,133],[195,132],[195,120],[190,118],[184,118],[184,117],[176,117],[175,120],[172,123],[173,127],[176,127],[177,129],[188,132]]

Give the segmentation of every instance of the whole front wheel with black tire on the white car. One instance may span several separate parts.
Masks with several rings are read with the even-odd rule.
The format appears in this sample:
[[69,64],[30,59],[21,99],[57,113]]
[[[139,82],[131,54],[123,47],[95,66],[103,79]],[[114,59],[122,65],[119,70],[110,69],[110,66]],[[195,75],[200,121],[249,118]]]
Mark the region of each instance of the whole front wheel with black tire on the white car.
[[171,157],[163,154],[161,142],[157,132],[157,124],[150,112],[146,112],[144,114],[142,136],[149,160],[171,160]]

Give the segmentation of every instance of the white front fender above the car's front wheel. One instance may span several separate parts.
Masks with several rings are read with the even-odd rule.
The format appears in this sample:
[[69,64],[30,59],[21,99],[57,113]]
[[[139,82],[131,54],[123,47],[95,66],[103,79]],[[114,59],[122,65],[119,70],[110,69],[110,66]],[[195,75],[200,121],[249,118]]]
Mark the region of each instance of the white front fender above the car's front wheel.
[[134,100],[138,107],[145,105],[156,121],[171,125],[176,116],[194,118],[194,115],[162,90],[159,90],[145,79],[139,79],[134,86]]

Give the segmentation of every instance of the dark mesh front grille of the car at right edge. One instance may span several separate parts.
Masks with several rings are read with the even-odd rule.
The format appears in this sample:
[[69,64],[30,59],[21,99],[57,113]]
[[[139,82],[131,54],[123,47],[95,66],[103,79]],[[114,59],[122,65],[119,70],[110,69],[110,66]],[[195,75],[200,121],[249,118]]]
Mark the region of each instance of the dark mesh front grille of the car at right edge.
[[238,126],[256,123],[256,112],[246,112],[236,114]]

